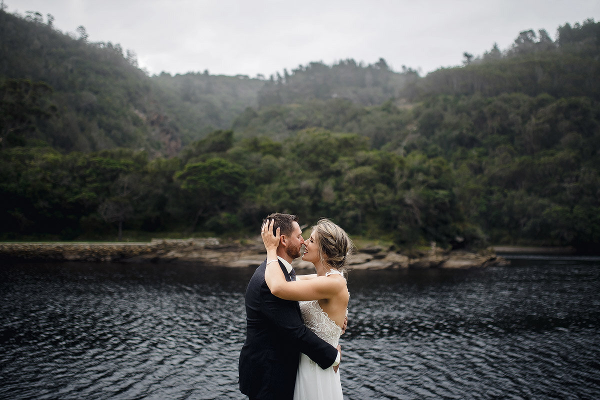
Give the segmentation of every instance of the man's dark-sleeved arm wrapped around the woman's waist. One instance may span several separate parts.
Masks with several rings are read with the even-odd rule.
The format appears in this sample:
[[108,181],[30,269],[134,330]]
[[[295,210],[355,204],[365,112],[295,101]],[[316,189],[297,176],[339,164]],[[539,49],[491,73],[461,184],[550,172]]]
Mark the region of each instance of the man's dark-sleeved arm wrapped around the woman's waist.
[[320,339],[308,329],[296,309],[296,302],[282,300],[271,294],[265,285],[261,287],[262,311],[266,317],[276,324],[292,341],[301,353],[306,354],[311,360],[323,369],[337,366],[340,363],[340,353],[337,348]]

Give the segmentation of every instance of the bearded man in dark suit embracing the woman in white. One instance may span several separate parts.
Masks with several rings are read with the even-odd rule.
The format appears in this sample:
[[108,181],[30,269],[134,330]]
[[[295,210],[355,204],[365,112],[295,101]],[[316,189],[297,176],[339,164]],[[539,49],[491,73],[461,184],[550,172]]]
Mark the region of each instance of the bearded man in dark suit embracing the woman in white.
[[[287,281],[296,280],[292,260],[304,243],[295,215],[274,213],[273,231],[281,228],[279,266]],[[246,341],[239,354],[239,390],[253,399],[292,399],[300,353],[321,368],[337,366],[340,353],[304,326],[298,302],[271,294],[265,282],[266,259],[246,289]],[[339,346],[338,346],[339,348]]]

